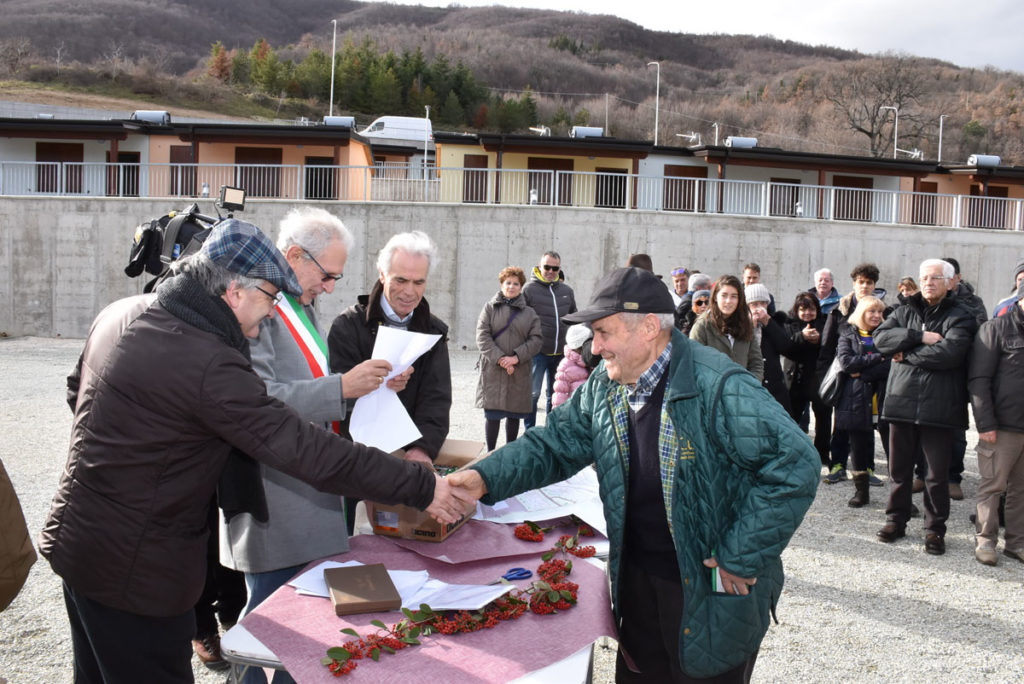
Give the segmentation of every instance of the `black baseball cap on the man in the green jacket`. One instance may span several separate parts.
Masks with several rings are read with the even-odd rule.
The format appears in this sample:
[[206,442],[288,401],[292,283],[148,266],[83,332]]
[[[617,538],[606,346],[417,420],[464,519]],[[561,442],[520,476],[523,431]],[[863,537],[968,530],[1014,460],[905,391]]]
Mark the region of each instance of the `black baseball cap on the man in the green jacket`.
[[616,268],[597,282],[587,308],[562,316],[565,323],[590,323],[612,313],[674,313],[676,310],[662,281],[649,270]]

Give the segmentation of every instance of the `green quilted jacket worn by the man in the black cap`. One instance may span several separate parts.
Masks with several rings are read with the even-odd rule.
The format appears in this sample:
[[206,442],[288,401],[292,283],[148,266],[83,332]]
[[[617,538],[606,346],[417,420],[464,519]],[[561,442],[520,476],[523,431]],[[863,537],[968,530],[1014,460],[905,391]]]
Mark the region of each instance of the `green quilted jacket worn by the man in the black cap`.
[[[675,426],[676,459],[666,510],[684,596],[679,657],[689,676],[712,677],[759,647],[782,589],[779,556],[814,499],[820,461],[778,402],[726,356],[673,331],[667,373],[663,416]],[[474,466],[487,485],[483,501],[494,503],[595,465],[616,619],[629,466],[612,407],[623,391],[602,364],[546,427]],[[702,561],[713,555],[730,572],[758,579],[750,595],[712,592]]]

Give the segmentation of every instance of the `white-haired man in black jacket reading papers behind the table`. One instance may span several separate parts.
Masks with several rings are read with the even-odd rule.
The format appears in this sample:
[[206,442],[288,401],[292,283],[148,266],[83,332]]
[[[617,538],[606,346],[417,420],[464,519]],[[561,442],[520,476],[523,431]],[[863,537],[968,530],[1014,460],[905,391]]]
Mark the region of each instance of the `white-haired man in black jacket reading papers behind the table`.
[[[332,373],[347,373],[371,358],[381,326],[413,333],[440,335],[430,350],[413,364],[406,389],[398,392],[421,437],[406,446],[406,459],[431,464],[449,432],[452,411],[452,367],[447,351],[447,326],[430,313],[423,294],[433,268],[437,248],[425,233],[393,236],[377,257],[378,280],[369,295],[334,319],[328,335]],[[353,402],[354,403],[354,402]],[[349,407],[351,409],[351,407]],[[341,434],[348,436],[349,411]],[[346,499],[348,531],[352,533],[357,499]]]

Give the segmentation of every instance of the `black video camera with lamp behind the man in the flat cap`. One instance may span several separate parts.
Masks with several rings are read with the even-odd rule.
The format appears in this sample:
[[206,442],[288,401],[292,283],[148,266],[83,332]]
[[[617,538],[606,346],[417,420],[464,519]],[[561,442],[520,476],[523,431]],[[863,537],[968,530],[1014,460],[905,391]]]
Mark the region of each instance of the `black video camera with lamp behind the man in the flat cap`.
[[[246,191],[241,187],[221,185],[220,198],[214,206],[217,208],[216,218],[199,213],[199,204],[193,203],[184,211],[172,210],[160,218],[139,224],[135,228],[125,274],[137,277],[144,270],[154,275],[143,288],[144,292],[153,292],[172,263],[199,251],[213,226],[233,218],[236,211],[245,211]],[[220,210],[226,211],[227,216],[221,216]]]

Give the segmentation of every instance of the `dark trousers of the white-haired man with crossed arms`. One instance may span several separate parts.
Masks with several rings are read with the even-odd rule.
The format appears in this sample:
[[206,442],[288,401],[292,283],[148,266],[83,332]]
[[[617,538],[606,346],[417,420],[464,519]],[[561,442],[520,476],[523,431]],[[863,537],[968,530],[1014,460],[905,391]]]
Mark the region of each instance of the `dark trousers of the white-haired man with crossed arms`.
[[946,533],[949,518],[949,460],[956,430],[912,423],[889,424],[889,506],[886,518],[900,525],[910,519],[913,493],[913,466],[919,451],[924,453],[928,472],[925,476],[925,529],[939,537]]

